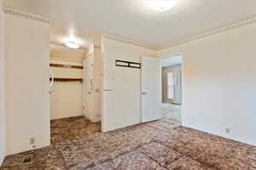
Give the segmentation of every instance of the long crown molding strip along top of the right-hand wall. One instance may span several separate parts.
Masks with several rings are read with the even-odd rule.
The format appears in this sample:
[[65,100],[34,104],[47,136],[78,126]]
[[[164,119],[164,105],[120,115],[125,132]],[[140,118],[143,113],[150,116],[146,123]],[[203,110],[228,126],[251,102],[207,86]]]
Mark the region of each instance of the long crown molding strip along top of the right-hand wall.
[[170,43],[168,45],[165,45],[162,48],[158,48],[158,49],[171,48],[173,46],[177,46],[177,45],[183,44],[185,42],[192,42],[192,41],[204,38],[204,37],[210,37],[212,35],[217,35],[217,34],[222,33],[222,32],[231,31],[231,30],[234,30],[236,28],[241,28],[243,26],[253,25],[255,23],[256,23],[256,18],[252,18],[252,19],[249,19],[249,20],[244,20],[244,21],[232,24],[230,26],[224,26],[224,27],[218,28],[216,30],[207,31],[206,33],[200,34],[200,35],[195,36],[195,37],[189,37],[189,38],[185,38],[183,40],[177,41],[177,42],[172,42],[172,43]]

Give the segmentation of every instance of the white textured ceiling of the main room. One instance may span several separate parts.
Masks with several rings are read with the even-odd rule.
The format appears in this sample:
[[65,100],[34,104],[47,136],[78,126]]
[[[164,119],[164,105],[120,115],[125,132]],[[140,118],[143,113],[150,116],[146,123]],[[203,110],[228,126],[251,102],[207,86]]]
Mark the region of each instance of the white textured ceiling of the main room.
[[163,13],[144,0],[6,0],[5,5],[52,20],[51,42],[61,42],[57,37],[65,31],[76,32],[84,47],[86,35],[109,34],[160,48],[256,16],[255,0],[177,0]]

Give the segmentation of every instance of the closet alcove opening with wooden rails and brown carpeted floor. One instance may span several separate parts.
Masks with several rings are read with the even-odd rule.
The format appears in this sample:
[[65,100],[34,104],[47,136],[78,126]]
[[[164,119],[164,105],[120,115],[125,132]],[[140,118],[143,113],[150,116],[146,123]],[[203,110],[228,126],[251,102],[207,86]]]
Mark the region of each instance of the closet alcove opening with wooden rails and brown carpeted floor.
[[101,132],[100,48],[49,49],[51,143]]

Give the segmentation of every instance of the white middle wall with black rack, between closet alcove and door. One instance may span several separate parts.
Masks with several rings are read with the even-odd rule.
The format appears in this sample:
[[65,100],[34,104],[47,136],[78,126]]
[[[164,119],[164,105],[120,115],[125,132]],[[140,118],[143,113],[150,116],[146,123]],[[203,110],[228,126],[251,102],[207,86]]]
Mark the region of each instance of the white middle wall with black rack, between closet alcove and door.
[[141,62],[142,56],[156,56],[154,49],[102,37],[103,92],[102,131],[141,122],[141,70],[116,67],[115,60]]

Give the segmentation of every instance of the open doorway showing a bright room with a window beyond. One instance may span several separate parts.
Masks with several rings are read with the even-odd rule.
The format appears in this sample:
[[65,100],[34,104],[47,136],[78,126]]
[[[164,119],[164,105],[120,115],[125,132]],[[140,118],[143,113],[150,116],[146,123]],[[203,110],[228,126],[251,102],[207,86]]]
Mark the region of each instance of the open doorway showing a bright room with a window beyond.
[[182,121],[182,60],[180,54],[161,58],[161,114],[178,122]]

